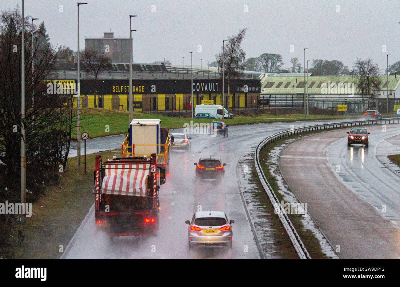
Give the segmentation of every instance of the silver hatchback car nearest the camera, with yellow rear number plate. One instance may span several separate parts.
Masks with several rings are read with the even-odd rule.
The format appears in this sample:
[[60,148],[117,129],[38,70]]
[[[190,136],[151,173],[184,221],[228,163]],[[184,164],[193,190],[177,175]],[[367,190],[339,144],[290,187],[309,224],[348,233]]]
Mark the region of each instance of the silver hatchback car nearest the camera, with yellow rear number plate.
[[186,220],[189,248],[193,245],[227,245],[232,248],[232,226],[222,211],[200,211],[193,215],[192,222]]

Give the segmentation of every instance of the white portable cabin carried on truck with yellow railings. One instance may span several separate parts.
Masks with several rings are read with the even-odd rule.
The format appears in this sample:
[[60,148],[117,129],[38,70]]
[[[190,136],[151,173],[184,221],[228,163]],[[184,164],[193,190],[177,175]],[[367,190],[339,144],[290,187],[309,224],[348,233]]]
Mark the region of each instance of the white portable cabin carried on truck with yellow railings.
[[129,125],[129,146],[134,144],[136,155],[159,154],[161,151],[161,120],[134,119]]

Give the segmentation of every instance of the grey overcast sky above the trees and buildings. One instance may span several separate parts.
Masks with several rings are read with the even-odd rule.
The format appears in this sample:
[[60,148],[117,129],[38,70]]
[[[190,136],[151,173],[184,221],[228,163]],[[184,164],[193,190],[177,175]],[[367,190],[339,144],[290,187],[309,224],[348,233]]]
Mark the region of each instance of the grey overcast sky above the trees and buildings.
[[[246,58],[262,53],[290,58],[340,60],[352,67],[356,58],[371,57],[386,68],[400,60],[399,0],[86,0],[80,8],[80,46],[85,36],[103,32],[129,37],[129,14],[137,63],[163,60],[200,65],[215,60],[226,36],[247,27],[242,44]],[[1,0],[0,10],[21,6],[21,0]],[[63,11],[61,11],[61,6]],[[247,7],[248,12],[245,12]],[[340,9],[340,12],[339,12]],[[154,11],[154,12],[152,12]],[[25,0],[25,15],[44,21],[50,42],[76,50],[76,1]],[[198,52],[201,45],[201,52]],[[290,46],[294,52],[290,52]],[[386,51],[384,49],[386,46]],[[382,51],[383,50],[383,51]]]

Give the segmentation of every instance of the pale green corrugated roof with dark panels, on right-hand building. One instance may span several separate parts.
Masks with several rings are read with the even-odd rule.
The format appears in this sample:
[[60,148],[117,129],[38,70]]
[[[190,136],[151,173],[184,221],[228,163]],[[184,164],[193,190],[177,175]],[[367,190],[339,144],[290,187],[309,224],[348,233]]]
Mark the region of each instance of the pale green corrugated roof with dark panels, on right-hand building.
[[[380,88],[381,90],[386,90],[386,76],[379,76],[380,80],[382,81]],[[306,80],[307,80],[307,75],[306,75]],[[388,77],[389,84],[388,84],[388,90],[396,90],[400,84],[400,77],[395,78],[394,76],[389,76]],[[267,88],[267,84],[270,82],[275,82],[275,84]],[[283,82],[283,84],[279,85],[280,82]],[[273,95],[279,95],[279,94],[285,94],[285,95],[290,95],[290,94],[303,94],[304,93],[304,86],[299,85],[300,82],[304,82],[304,74],[302,76],[268,76],[264,80],[261,86],[261,94],[273,94]],[[312,82],[315,82],[313,85]],[[357,79],[354,76],[308,76],[308,83],[309,83],[309,88],[308,88],[308,93],[309,94],[323,94],[322,93],[322,84],[325,83],[326,86],[328,85],[328,82],[330,82],[331,87],[333,88],[332,84],[336,83],[338,84],[352,84],[354,83],[354,94],[357,94]],[[278,88],[279,86],[279,88]],[[300,87],[302,88],[300,88]],[[346,90],[346,89],[344,89]],[[329,94],[329,93],[325,93]],[[341,92],[338,90],[337,94],[349,94],[347,92]]]

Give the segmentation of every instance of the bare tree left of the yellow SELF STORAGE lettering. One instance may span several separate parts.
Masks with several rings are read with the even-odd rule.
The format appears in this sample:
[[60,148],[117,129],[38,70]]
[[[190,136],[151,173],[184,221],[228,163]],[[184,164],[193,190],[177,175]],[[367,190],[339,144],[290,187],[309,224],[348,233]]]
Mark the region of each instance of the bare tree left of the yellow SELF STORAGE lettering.
[[[100,71],[108,70],[108,66],[111,64],[111,58],[99,52],[86,48],[81,51],[82,64],[85,66],[89,75],[94,78],[94,89],[98,91],[98,75]],[[94,107],[97,108],[96,95],[94,96]]]

